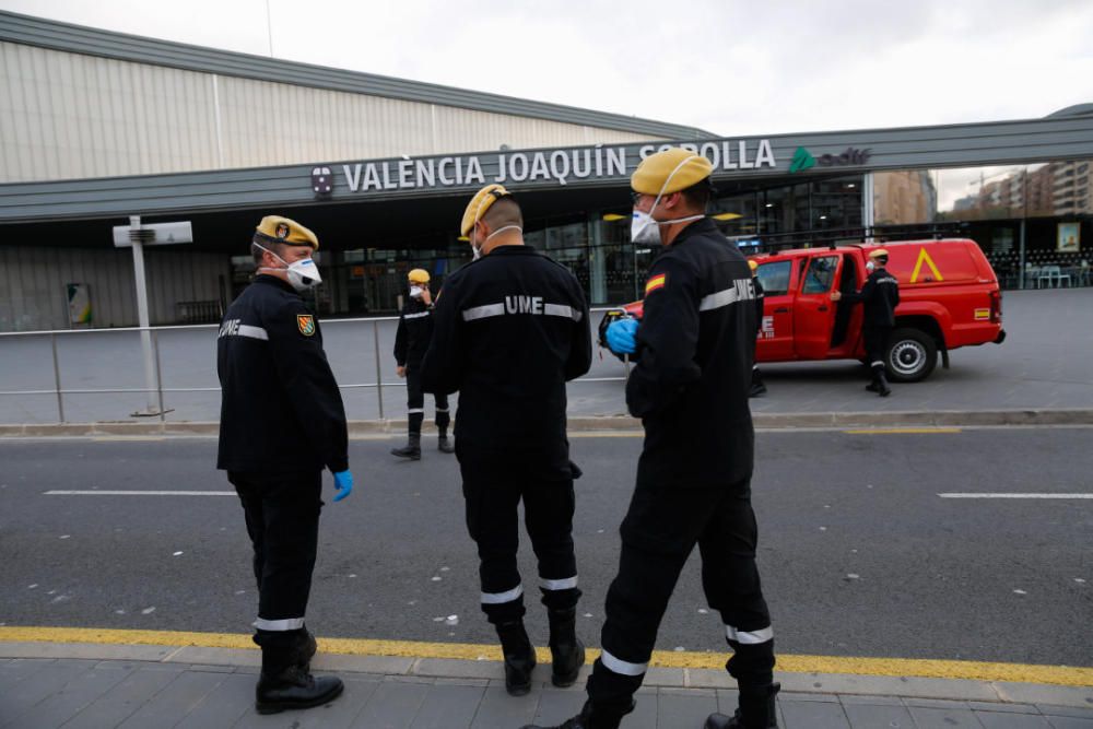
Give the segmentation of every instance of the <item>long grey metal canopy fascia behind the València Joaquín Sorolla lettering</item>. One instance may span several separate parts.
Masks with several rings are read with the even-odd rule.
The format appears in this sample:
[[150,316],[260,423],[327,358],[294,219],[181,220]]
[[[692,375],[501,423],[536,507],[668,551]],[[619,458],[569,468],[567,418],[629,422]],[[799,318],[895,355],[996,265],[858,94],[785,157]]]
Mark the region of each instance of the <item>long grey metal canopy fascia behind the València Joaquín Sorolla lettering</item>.
[[[776,162],[774,168],[715,171],[715,180],[733,180],[742,184],[751,181],[759,184],[771,177],[803,183],[836,172],[841,175],[850,175],[885,169],[1007,165],[1093,156],[1093,108],[1066,111],[1070,113],[1019,121],[809,132],[736,140],[700,140],[690,143],[743,144],[754,150],[761,141],[768,142]],[[651,142],[651,144],[659,145],[662,142]],[[601,146],[563,148],[563,151],[583,154],[585,151]],[[642,146],[645,145],[608,145],[607,149],[624,150],[623,174],[569,179],[565,186],[555,179],[506,183],[506,186],[516,192],[532,190],[572,192],[625,187],[630,174],[640,160]],[[789,174],[789,161],[799,146],[808,149],[816,157],[824,154],[839,155],[847,148],[869,149],[871,155],[865,164],[818,166]],[[552,150],[538,151],[546,154],[552,152]],[[537,150],[509,150],[455,156],[462,160],[479,157],[484,183],[490,183],[494,181],[494,177],[498,174],[500,155],[505,154],[510,158],[516,154],[531,156],[536,152]],[[415,157],[414,162],[437,163],[443,158],[440,155]],[[400,161],[401,158],[337,163],[317,161],[316,164],[309,165],[0,185],[0,224],[61,219],[117,219],[130,214],[196,215],[232,210],[274,210],[313,205],[338,208],[346,203],[375,201],[395,204],[400,200],[462,199],[483,184],[475,181],[470,185],[400,190],[372,189],[355,192],[350,190],[345,176],[348,169],[352,171],[357,164],[369,162],[397,167]],[[312,169],[315,166],[330,167],[333,173],[336,187],[329,200],[319,202],[315,199],[310,185]]]

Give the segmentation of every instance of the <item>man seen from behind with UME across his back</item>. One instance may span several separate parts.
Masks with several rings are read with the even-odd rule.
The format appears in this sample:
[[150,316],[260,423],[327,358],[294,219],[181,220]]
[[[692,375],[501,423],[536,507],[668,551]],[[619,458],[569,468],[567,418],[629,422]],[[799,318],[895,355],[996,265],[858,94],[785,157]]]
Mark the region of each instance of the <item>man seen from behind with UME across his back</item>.
[[572,685],[585,662],[572,537],[579,471],[569,461],[565,384],[588,372],[592,356],[580,284],[524,245],[522,226],[519,204],[501,185],[471,199],[460,233],[474,260],[437,294],[422,365],[425,391],[459,391],[456,457],[467,527],[478,545],[482,610],[501,639],[513,695],[530,690],[536,666],[516,563],[520,502],[539,561],[554,685]]

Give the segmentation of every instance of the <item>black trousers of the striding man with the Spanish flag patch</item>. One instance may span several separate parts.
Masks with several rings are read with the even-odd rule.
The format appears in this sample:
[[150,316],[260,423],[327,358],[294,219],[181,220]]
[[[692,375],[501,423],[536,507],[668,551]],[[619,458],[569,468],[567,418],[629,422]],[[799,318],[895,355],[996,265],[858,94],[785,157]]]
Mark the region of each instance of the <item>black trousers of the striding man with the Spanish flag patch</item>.
[[592,703],[607,712],[630,710],[668,600],[695,544],[706,600],[721,613],[736,650],[730,673],[741,684],[771,683],[773,637],[756,643],[753,634],[769,634],[771,614],[755,566],[750,480],[718,489],[639,483],[620,532],[619,575],[608,590],[601,635],[604,655],[588,681]]

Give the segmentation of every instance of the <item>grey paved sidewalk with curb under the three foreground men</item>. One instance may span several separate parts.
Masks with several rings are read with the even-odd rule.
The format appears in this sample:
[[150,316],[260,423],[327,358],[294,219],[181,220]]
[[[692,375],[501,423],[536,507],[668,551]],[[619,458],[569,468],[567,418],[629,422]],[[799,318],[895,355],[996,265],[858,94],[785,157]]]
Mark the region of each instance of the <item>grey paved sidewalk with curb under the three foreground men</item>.
[[[579,710],[581,680],[519,698],[490,660],[319,655],[345,693],[326,707],[260,716],[257,650],[155,645],[0,643],[0,727],[360,727],[518,729]],[[587,670],[587,669],[586,669]],[[1042,727],[1093,729],[1093,686],[837,673],[779,673],[783,729]],[[544,685],[545,684],[545,685]],[[625,729],[687,729],[736,707],[722,671],[653,668]]]

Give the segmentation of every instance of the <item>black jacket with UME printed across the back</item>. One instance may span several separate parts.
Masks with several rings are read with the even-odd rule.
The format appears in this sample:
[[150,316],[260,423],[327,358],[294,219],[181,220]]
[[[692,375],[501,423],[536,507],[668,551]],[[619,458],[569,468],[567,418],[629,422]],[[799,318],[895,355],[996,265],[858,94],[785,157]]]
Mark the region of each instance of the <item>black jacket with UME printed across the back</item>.
[[433,317],[422,387],[459,391],[456,443],[541,449],[567,467],[565,383],[592,360],[573,273],[529,246],[498,246],[448,277]]

